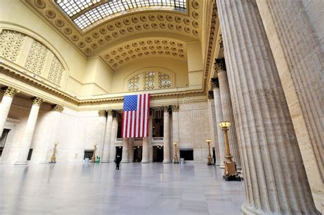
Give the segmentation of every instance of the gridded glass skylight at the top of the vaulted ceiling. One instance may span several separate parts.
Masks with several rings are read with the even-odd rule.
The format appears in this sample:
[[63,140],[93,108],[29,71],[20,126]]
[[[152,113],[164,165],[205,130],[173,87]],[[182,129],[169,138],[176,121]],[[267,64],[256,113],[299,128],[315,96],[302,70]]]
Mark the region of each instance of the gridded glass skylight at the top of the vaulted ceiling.
[[55,0],[72,21],[85,29],[102,18],[141,8],[160,8],[186,12],[187,0]]

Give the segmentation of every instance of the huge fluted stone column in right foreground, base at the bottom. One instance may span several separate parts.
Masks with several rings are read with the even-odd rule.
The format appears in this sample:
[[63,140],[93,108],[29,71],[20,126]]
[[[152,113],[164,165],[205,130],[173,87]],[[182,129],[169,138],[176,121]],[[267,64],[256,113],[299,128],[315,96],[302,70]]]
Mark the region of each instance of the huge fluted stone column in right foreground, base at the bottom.
[[241,142],[245,214],[316,214],[301,153],[255,1],[217,0]]

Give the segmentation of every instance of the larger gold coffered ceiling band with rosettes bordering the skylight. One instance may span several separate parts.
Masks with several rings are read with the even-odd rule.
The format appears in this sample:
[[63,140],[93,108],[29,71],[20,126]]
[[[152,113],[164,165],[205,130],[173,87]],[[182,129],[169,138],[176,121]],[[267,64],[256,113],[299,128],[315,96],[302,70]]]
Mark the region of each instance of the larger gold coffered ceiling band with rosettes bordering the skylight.
[[[173,34],[176,40],[185,40],[188,37],[199,40],[202,31],[202,0],[187,0],[185,13],[156,8],[118,13],[118,16],[97,21],[94,27],[86,31],[79,29],[53,0],[25,0],[25,2],[87,56],[93,56],[103,48],[109,49],[112,43],[116,46],[116,41],[135,34],[145,34],[145,37],[149,38],[161,32]],[[155,51],[159,53],[158,50]]]

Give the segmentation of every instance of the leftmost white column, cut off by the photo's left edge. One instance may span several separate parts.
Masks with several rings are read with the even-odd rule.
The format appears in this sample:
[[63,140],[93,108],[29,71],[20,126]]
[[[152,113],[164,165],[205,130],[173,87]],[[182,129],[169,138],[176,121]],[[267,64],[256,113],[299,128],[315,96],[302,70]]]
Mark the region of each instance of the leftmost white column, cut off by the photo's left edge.
[[12,87],[5,89],[5,94],[3,95],[0,104],[0,138],[5,127],[5,121],[7,121],[8,118],[12,99],[14,99],[14,96],[19,92],[19,90],[16,90]]

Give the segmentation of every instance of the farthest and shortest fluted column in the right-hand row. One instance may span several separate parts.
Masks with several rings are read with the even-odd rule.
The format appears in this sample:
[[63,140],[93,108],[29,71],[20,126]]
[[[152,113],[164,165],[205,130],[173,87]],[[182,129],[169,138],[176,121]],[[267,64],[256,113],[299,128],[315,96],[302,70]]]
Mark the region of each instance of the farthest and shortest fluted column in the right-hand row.
[[211,142],[214,145],[214,149],[215,149],[215,164],[219,166],[221,164],[221,160],[219,157],[219,144],[218,144],[218,137],[217,137],[218,125],[216,123],[215,101],[214,101],[213,91],[208,92],[208,99],[209,99],[208,109],[210,109],[209,120],[210,120],[210,127],[211,127]]

